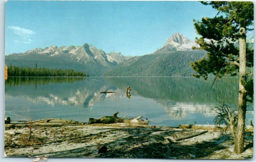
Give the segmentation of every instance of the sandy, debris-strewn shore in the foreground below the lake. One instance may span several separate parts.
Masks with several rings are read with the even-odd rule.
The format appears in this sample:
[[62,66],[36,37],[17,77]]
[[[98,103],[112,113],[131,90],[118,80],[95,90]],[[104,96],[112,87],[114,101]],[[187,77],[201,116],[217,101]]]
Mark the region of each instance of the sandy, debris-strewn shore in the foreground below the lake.
[[[175,141],[204,130],[208,131]],[[246,150],[236,155],[231,132],[224,134],[209,125],[5,124],[4,152],[7,157],[251,159],[253,128],[246,130]],[[105,147],[106,151],[99,151]]]

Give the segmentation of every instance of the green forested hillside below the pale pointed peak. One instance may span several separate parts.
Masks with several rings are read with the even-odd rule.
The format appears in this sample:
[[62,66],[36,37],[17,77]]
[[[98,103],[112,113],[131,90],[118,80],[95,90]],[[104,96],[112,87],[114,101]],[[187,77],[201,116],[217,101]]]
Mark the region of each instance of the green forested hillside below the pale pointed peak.
[[112,68],[104,76],[191,76],[190,62],[205,54],[203,50],[194,50],[137,56]]

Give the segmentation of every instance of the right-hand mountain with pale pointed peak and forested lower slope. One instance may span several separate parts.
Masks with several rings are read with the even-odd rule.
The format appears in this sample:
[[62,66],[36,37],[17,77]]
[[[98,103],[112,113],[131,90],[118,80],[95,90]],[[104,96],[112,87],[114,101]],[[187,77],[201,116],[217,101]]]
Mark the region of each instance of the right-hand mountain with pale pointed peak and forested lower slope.
[[172,35],[163,47],[152,54],[127,59],[113,67],[105,76],[191,76],[191,61],[205,56],[204,50],[192,50],[198,47],[180,33]]

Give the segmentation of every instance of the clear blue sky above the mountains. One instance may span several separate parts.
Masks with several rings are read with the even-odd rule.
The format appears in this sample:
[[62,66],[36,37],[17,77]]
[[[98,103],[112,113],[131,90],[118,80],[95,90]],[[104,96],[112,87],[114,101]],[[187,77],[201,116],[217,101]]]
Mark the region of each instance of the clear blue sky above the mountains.
[[144,55],[177,32],[195,39],[192,20],[216,13],[200,2],[9,0],[5,55],[84,43],[124,56]]

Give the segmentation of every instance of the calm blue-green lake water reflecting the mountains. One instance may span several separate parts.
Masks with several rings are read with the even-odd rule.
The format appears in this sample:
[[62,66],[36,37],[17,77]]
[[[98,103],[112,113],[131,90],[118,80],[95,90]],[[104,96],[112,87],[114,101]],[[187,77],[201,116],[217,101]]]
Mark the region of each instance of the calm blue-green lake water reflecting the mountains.
[[[213,124],[211,108],[218,96],[237,107],[238,78],[172,77],[9,77],[5,81],[5,116],[11,120],[47,118],[88,122],[89,118],[110,116],[135,118],[145,115],[149,125]],[[131,96],[126,88],[131,87]],[[116,93],[100,94],[103,91]],[[248,104],[246,124],[253,120]]]

